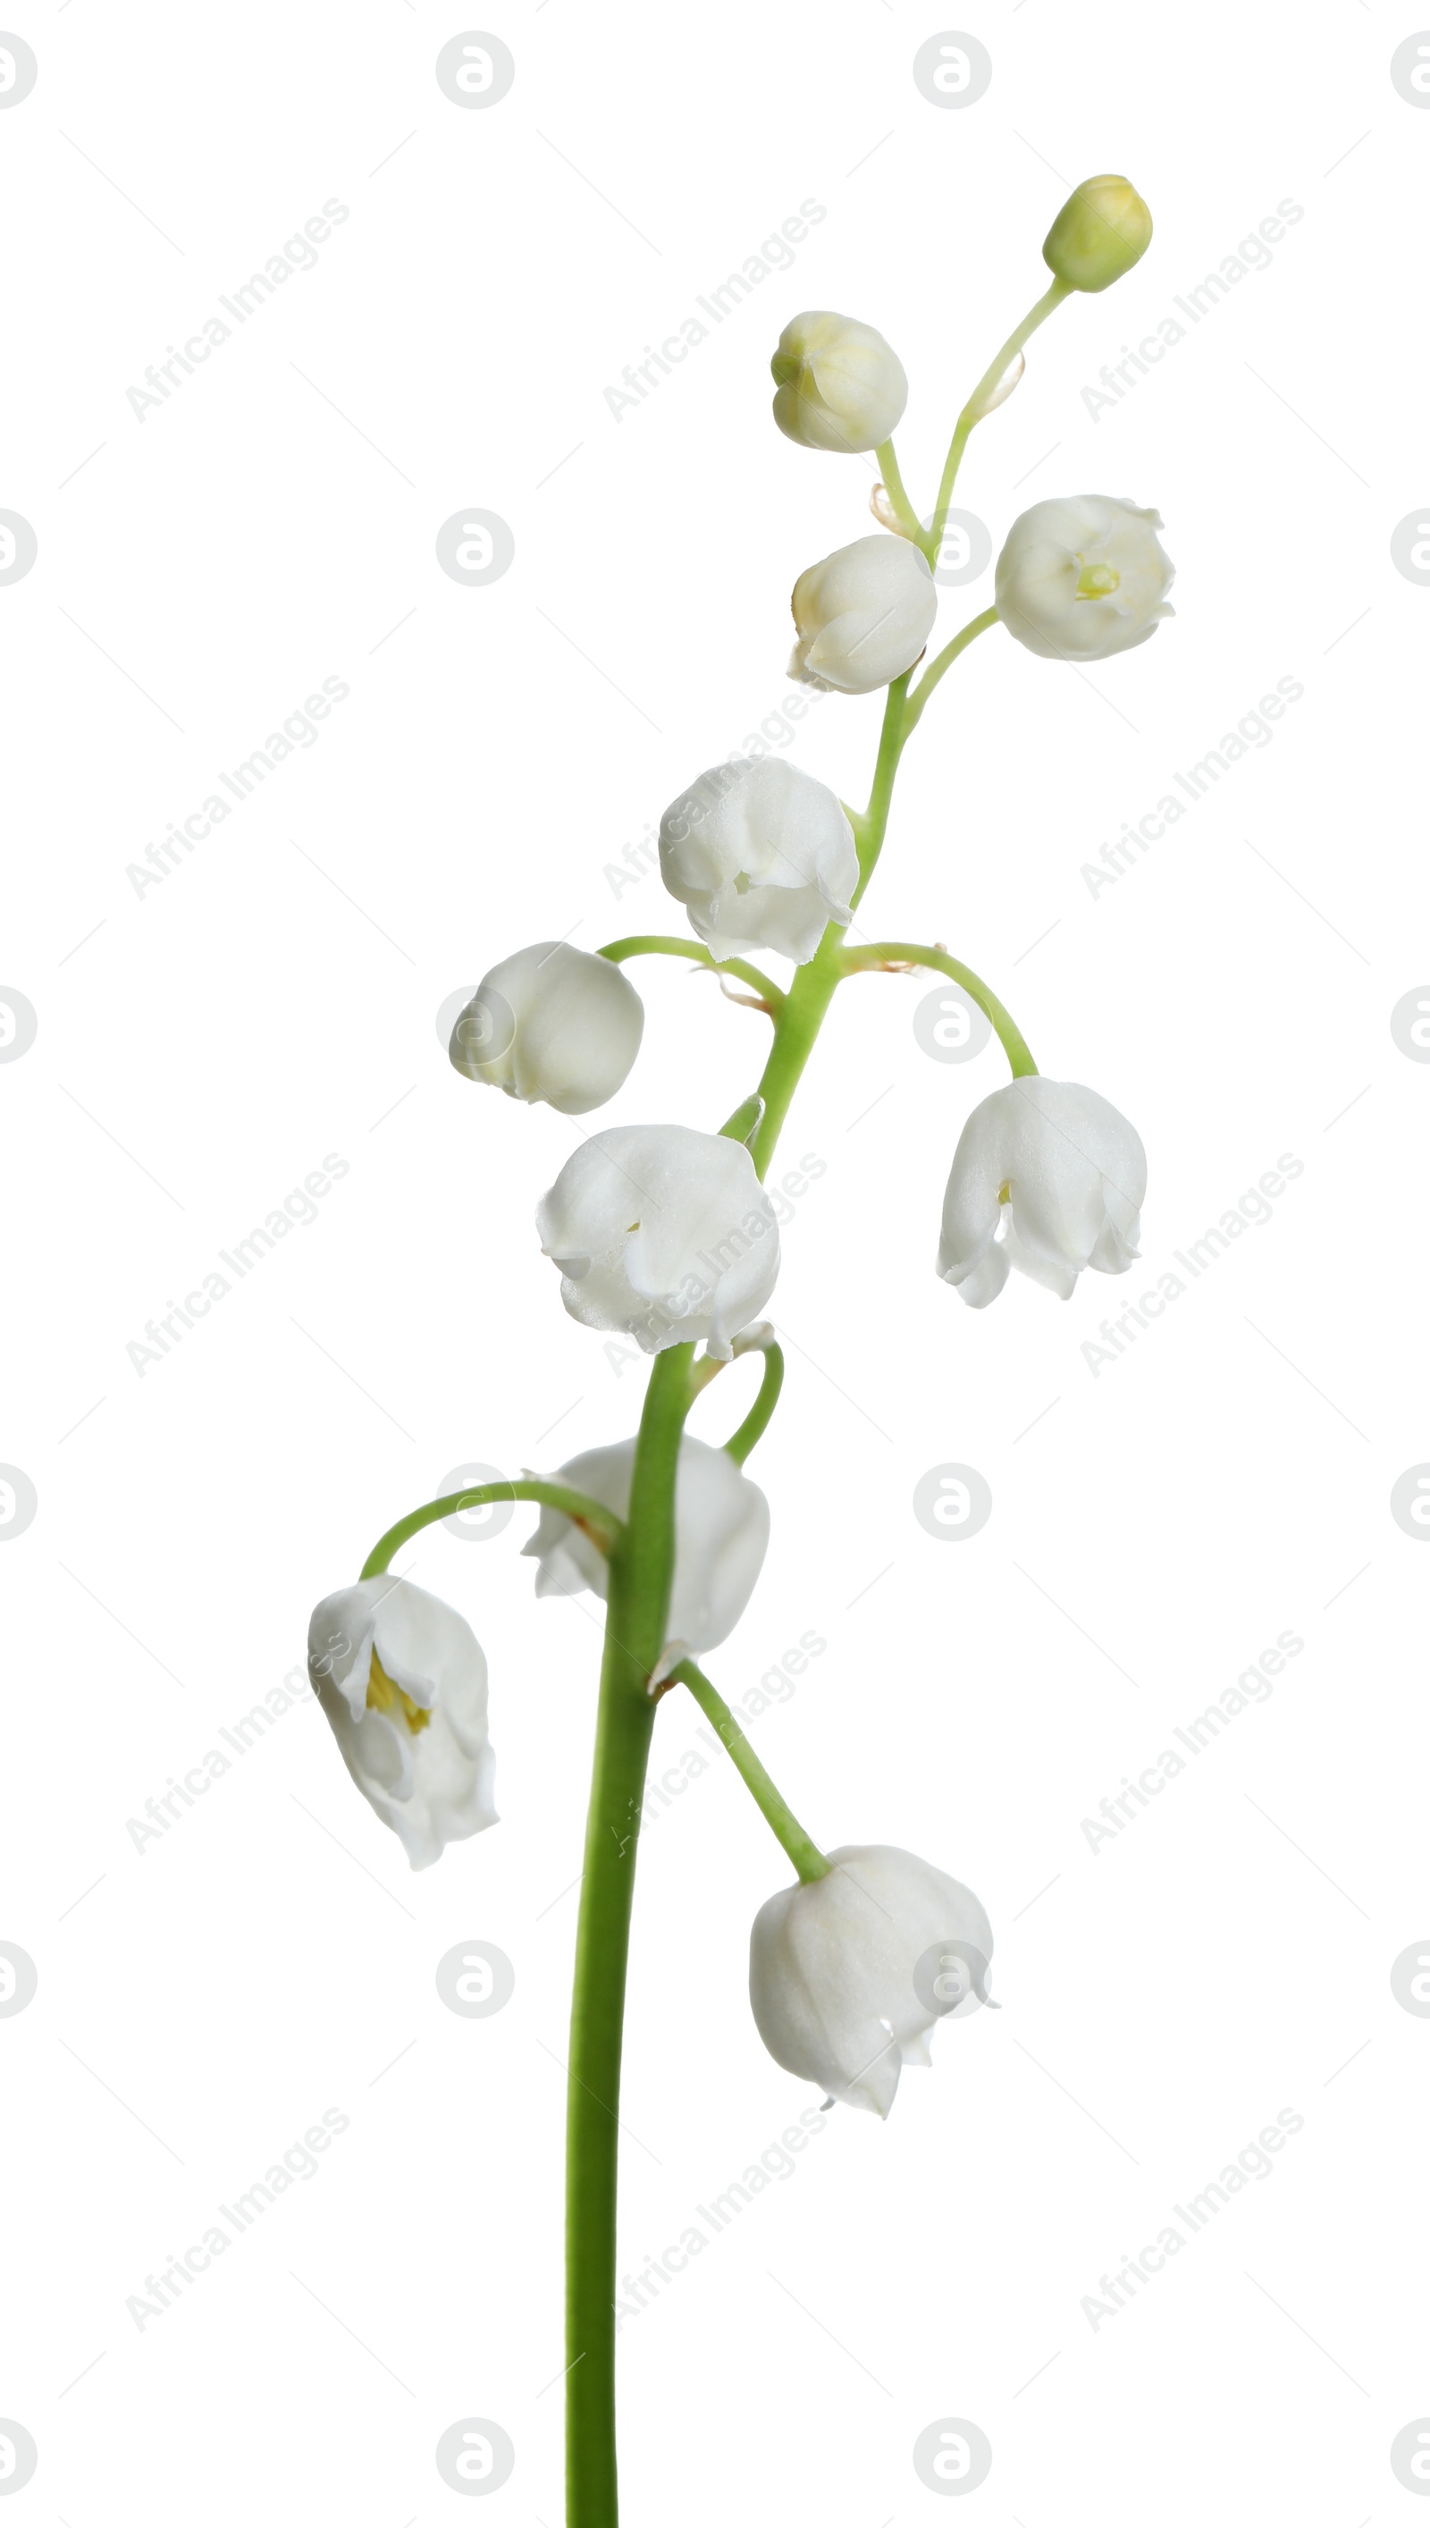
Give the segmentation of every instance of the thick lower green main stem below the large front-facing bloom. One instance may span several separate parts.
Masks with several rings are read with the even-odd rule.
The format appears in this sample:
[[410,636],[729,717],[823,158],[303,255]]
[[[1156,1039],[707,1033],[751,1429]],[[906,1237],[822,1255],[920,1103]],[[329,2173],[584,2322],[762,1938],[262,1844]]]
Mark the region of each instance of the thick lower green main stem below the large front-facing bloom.
[[616,2159],[639,1815],[675,1567],[675,1469],[695,1345],[649,1375],[611,1550],[566,2091],[566,2520],[616,2528]]

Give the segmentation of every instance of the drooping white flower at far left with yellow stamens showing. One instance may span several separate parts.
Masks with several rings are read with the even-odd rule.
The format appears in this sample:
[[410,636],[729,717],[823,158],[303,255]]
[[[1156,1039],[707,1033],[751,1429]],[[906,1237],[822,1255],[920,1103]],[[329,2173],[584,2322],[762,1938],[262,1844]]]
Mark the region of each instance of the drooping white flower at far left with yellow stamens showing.
[[495,1825],[488,1663],[470,1623],[382,1572],[313,1608],[308,1676],[364,1800],[414,1871]]

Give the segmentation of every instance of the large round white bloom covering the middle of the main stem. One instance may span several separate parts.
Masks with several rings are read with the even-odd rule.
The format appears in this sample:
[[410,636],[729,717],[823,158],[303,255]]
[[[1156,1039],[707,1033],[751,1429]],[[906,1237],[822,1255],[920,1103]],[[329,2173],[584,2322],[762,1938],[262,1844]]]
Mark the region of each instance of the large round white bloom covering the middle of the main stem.
[[536,1206],[536,1229],[568,1315],[642,1352],[705,1337],[712,1360],[730,1360],[781,1269],[745,1145],[682,1122],[594,1133]]

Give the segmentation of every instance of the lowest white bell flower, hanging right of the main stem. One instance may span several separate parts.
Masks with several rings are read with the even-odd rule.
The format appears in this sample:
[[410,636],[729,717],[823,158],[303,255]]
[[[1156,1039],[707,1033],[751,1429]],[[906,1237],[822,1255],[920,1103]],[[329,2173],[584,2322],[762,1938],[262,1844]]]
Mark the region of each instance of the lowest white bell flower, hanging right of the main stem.
[[[750,1931],[750,2007],[776,2063],[887,2116],[904,2063],[970,1990],[988,2000],[988,1914],[889,1843],[846,1843],[826,1878],[783,1888]],[[947,1962],[963,1974],[947,1974]]]

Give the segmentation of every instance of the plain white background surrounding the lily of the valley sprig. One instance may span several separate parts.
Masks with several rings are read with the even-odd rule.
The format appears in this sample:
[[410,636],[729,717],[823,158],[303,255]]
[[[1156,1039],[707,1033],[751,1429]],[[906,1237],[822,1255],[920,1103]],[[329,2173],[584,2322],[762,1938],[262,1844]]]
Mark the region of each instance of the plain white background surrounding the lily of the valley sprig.
[[[483,20],[480,20],[483,23]],[[773,1312],[791,1378],[753,1474],[773,1545],[710,1668],[811,1830],[978,1888],[1000,2015],[844,2108],[622,2331],[629,2520],[930,2523],[915,2434],[970,2417],[1006,2528],[1412,2513],[1390,2440],[1430,2409],[1425,2048],[1390,1964],[1430,1934],[1417,1545],[1430,1456],[1422,1115],[1390,1009],[1430,968],[1417,715],[1430,597],[1390,536],[1425,498],[1430,116],[1390,83],[1417,20],[1048,0],[952,25],[988,94],[940,111],[899,0],[490,20],[510,96],[435,81],[430,0],[93,0],[15,20],[0,114],[10,384],[0,586],[0,1456],[38,1517],[3,1552],[0,1934],[38,1997],[0,2022],[0,2409],[35,2520],[462,2518],[462,2414],[518,2450],[498,2520],[561,2515],[561,2118],[599,1636],[503,1537],[404,1562],[475,1623],[503,1823],[424,1876],[313,1706],[134,1848],[126,1820],[303,1653],[311,1603],[467,1459],[551,1469],[634,1428],[644,1373],[561,1312],[531,1213],[574,1127],[470,1087],[435,1014],[531,938],[680,928],[604,875],[781,710],[798,569],[872,531],[867,460],[768,417],[803,306],[887,331],[922,508],[952,415],[1043,286],[1069,185],[1124,169],[1145,263],[1071,301],[973,442],[993,544],[1033,498],[1155,503],[1175,622],[1086,675],[1000,632],[904,761],[874,935],[947,940],[1046,1072],[1150,1150],[1145,1264],[985,1315],[935,1279],[947,1160],[1003,1077],[930,1062],[920,981],[834,1009],[786,1153]],[[126,389],[323,200],[349,220],[139,420]],[[604,387],[803,200],[793,268],[634,412]],[[1081,389],[1243,235],[1304,217],[1112,412]],[[435,536],[495,511],[515,564],[457,586]],[[942,632],[990,574],[942,599]],[[351,693],[212,839],[141,862],[323,678]],[[1079,875],[1278,678],[1304,698],[1117,885]],[[879,700],[778,751],[862,799]],[[763,1021],[644,963],[647,1042],[604,1122],[715,1127]],[[126,1345],[303,1176],[349,1173],[182,1345]],[[1081,1345],[1281,1153],[1304,1173],[1097,1375]],[[788,1163],[786,1160],[786,1163]],[[1182,1277],[1185,1279],[1185,1277]],[[697,1408],[723,1438],[753,1373]],[[993,1519],[927,1537],[912,1489],[978,1466]],[[1304,1653],[1114,1840],[1084,1818],[1281,1631]],[[657,1767],[695,1744],[680,1696]],[[814,2091],[745,2002],[788,1878],[730,1767],[642,1853],[624,2270],[690,2227]],[[435,1962],[500,1944],[515,2000],[452,2017]],[[141,2331],[126,2298],[323,2108],[311,2182]],[[1117,2318],[1099,2278],[1291,2108],[1304,2129]],[[796,2306],[798,2303],[798,2306]],[[3,2488],[0,2488],[3,2490]]]

